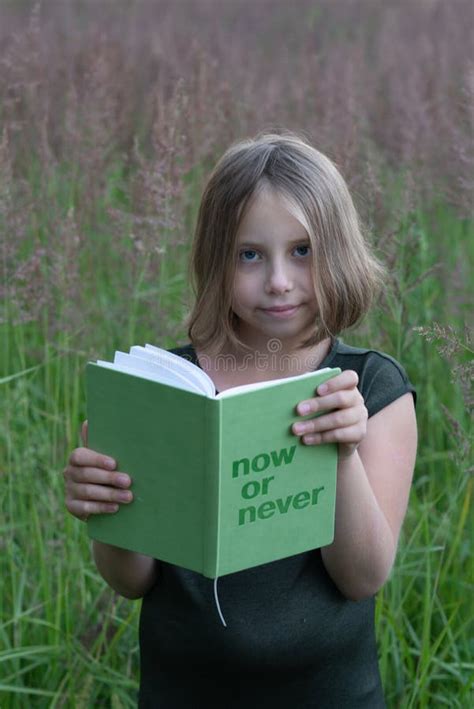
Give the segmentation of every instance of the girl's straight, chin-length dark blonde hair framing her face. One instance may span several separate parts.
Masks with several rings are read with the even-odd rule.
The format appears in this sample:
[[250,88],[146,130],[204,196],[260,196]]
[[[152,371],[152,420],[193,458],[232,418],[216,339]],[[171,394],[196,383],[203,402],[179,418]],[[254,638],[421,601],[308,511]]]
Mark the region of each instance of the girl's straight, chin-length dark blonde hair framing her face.
[[196,348],[245,348],[231,307],[237,231],[250,199],[270,187],[305,227],[313,254],[317,344],[354,325],[369,309],[384,270],[359,227],[347,185],[325,155],[294,133],[264,133],[232,145],[205,186],[191,253],[195,304],[187,319]]

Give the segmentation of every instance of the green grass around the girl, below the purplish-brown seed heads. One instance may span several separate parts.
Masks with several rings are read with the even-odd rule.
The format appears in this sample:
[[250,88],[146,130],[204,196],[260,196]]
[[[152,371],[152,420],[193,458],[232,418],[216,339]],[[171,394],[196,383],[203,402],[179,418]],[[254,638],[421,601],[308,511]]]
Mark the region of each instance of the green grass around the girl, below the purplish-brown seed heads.
[[[51,204],[30,225],[26,253],[38,240],[47,244],[54,219],[64,219],[80,200],[80,188],[67,179],[53,176]],[[190,232],[200,179],[199,170],[186,177],[182,233]],[[139,603],[121,599],[99,577],[85,527],[65,511],[62,469],[79,444],[86,361],[136,342],[185,341],[189,242],[174,243],[173,231],[164,229],[159,258],[137,253],[127,228],[117,228],[108,211],[127,214],[127,176],[116,168],[107,180],[102,203],[81,223],[83,241],[63,290],[52,284],[52,301],[35,320],[0,325],[2,709],[136,702]],[[398,192],[386,199],[396,205]],[[468,707],[472,480],[463,445],[470,421],[453,371],[472,360],[463,334],[472,224],[437,202],[392,226],[395,236],[384,247],[391,287],[359,330],[345,336],[399,358],[419,396],[409,511],[395,568],[377,600],[380,667],[389,707]],[[76,300],[68,278],[78,279]],[[451,326],[467,349],[440,355],[446,338],[430,341],[414,329],[433,322]]]

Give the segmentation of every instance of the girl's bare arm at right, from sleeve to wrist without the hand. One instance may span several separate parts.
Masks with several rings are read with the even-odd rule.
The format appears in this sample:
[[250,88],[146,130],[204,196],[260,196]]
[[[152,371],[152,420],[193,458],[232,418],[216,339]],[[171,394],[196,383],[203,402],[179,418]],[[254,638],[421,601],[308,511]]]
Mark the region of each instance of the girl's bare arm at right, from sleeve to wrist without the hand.
[[338,464],[336,530],[321,550],[326,570],[353,600],[372,596],[395,560],[416,455],[413,396],[372,416],[358,450]]

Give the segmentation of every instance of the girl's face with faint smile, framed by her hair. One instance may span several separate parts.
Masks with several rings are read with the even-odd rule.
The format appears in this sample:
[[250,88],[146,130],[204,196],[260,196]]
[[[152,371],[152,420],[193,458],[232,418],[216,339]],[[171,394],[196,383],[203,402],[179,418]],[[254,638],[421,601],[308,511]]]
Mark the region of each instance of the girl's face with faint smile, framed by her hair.
[[317,317],[308,233],[278,192],[257,194],[237,232],[232,309],[239,337],[254,349],[270,338],[291,349],[314,331]]

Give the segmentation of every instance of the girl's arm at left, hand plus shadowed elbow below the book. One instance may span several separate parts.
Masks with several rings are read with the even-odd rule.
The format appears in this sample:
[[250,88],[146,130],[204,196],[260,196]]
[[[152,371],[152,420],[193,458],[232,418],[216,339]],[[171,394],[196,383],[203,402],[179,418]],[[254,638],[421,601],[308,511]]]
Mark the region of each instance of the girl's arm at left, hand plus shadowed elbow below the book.
[[[87,422],[82,427],[87,446]],[[115,469],[115,461],[90,448],[76,448],[64,468],[66,507],[77,519],[91,514],[120,514],[120,504],[133,499],[128,489],[130,477]],[[158,578],[159,563],[144,554],[93,542],[97,569],[117,593],[126,598],[141,598]]]

